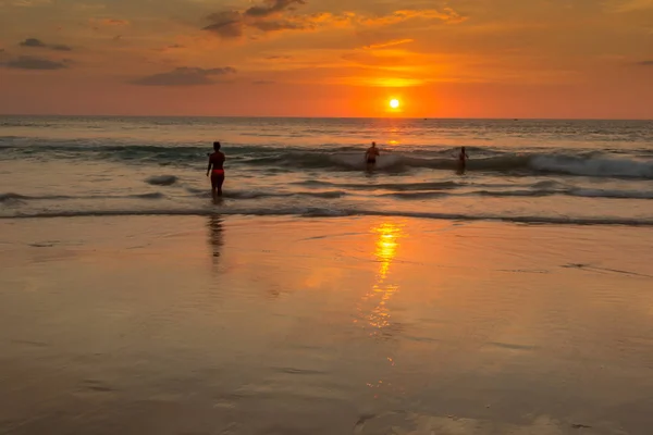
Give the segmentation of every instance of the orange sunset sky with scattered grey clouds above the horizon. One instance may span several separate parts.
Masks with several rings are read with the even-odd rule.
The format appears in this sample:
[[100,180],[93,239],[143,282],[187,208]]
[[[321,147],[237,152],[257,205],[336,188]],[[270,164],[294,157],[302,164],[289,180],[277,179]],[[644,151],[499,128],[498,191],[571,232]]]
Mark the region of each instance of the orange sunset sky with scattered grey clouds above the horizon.
[[3,114],[650,120],[651,101],[653,0],[0,0]]

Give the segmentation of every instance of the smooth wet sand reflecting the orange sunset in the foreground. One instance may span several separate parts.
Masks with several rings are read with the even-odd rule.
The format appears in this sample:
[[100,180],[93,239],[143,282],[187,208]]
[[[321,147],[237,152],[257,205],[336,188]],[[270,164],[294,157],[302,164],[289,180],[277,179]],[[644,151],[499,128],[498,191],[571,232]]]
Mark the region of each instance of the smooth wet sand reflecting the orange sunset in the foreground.
[[649,434],[653,229],[0,221],[2,434]]

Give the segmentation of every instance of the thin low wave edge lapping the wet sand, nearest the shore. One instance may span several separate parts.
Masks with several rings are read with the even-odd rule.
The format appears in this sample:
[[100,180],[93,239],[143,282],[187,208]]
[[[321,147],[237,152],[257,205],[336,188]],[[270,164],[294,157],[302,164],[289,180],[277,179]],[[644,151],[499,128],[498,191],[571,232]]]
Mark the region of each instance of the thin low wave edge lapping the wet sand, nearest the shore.
[[493,214],[457,214],[430,213],[410,211],[380,211],[328,208],[282,208],[282,209],[160,209],[160,210],[70,210],[23,213],[13,216],[0,215],[0,219],[46,219],[46,217],[83,217],[83,216],[136,216],[136,215],[170,215],[170,216],[210,216],[210,215],[294,215],[301,217],[342,217],[342,216],[387,216],[417,217],[447,221],[497,221],[521,224],[549,225],[621,225],[621,226],[653,226],[653,219],[628,217],[564,217],[564,216],[532,216],[532,215],[493,215]]

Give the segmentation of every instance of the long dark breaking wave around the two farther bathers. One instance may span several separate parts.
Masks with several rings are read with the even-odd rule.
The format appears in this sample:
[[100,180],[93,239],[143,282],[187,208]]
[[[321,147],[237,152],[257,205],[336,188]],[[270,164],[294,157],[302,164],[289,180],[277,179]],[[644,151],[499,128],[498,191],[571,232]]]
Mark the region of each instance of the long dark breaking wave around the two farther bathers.
[[[49,156],[62,159],[91,159],[135,164],[193,166],[204,165],[209,149],[188,145],[134,145],[95,142],[89,140],[52,141],[46,145],[25,145],[20,141],[2,145],[7,156],[34,158]],[[378,159],[375,170],[405,172],[410,170],[455,171],[456,149],[424,146],[406,148],[405,151],[384,152]],[[294,171],[365,171],[362,149],[350,146],[325,145],[315,148],[231,145],[225,147],[227,165],[284,169]],[[624,153],[600,151],[513,152],[497,148],[469,148],[469,172],[498,172],[514,175],[559,174],[591,177],[653,179],[653,159],[628,157]],[[639,156],[639,154],[638,154]]]

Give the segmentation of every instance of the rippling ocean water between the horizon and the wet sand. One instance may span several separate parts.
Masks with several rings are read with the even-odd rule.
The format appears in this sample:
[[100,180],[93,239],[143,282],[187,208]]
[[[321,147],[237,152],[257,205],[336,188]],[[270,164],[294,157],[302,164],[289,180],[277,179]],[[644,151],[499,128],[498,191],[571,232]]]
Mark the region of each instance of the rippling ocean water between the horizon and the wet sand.
[[[213,140],[227,159],[220,204],[205,174]],[[381,157],[369,172],[371,141]],[[0,162],[9,219],[219,210],[653,225],[651,121],[2,116]]]

